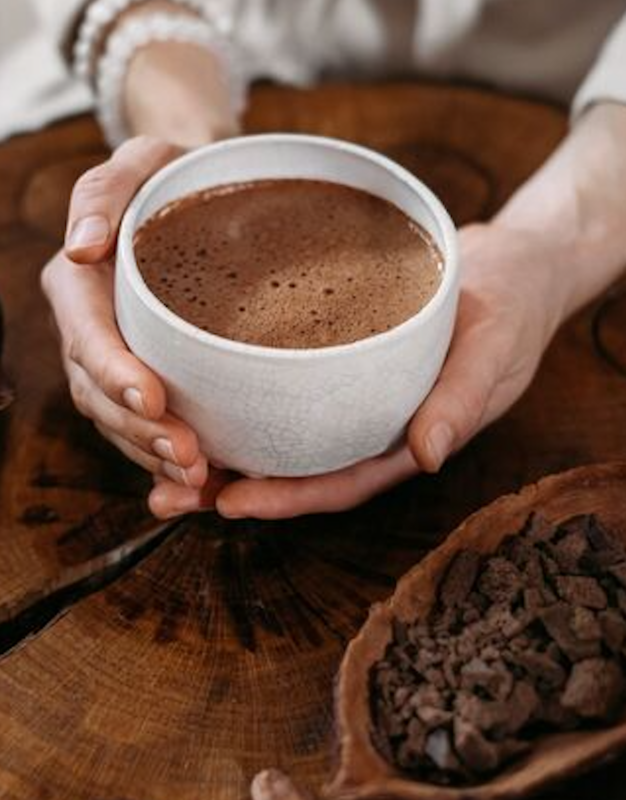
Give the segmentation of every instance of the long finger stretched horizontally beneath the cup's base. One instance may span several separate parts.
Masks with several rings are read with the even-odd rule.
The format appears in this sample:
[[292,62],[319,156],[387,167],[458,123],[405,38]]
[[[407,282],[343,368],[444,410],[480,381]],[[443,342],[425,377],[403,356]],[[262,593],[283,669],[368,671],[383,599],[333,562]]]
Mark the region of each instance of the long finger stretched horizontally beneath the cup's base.
[[242,478],[217,497],[229,519],[287,519],[301,514],[344,511],[417,473],[407,446],[353,467],[311,478]]

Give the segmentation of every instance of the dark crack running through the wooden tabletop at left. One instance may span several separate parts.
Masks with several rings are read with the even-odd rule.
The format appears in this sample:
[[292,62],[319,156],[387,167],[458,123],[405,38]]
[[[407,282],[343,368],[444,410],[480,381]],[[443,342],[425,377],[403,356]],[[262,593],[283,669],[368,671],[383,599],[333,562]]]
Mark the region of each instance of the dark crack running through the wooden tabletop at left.
[[81,600],[105,589],[144,561],[186,524],[186,518],[156,523],[131,542],[74,567],[9,607],[0,606],[0,661],[55,623]]

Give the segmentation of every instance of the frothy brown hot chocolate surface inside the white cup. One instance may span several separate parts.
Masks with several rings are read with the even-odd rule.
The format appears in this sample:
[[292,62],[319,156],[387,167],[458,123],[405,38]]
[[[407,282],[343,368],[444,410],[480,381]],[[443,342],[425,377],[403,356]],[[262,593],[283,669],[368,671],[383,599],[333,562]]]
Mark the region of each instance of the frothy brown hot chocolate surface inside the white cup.
[[144,225],[135,249],[146,283],[175,313],[268,346],[322,347],[385,331],[441,280],[438,250],[402,212],[318,181],[185,198]]

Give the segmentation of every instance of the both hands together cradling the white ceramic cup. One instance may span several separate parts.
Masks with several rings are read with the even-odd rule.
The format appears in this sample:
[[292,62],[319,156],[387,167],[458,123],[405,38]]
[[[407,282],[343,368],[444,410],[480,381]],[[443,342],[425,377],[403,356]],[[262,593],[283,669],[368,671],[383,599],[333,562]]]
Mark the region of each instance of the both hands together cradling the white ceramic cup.
[[127,349],[113,309],[113,254],[138,188],[180,154],[132,139],[74,188],[65,249],[42,274],[78,410],[154,479],[149,505],[168,518],[216,507],[227,518],[279,519],[358,505],[420,470],[437,471],[522,394],[560,322],[557,257],[536,234],[498,222],[461,230],[462,292],[439,380],[413,418],[406,443],[312,478],[241,478],[200,452],[194,431],[167,410],[158,376]]

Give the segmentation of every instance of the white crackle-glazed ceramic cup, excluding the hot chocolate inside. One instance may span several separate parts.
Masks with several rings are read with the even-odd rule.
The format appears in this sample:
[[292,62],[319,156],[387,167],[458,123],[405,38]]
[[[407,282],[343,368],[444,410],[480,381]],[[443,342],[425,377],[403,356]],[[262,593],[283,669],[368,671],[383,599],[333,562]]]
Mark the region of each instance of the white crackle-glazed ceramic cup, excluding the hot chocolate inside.
[[[230,341],[176,316],[141,277],[135,231],[171,200],[264,178],[334,181],[395,204],[429,231],[444,255],[435,296],[390,331],[308,350]],[[115,275],[117,319],[128,346],[161,376],[170,409],[197,431],[209,459],[248,475],[337,470],[401,440],[441,369],[459,291],[456,231],[423,183],[363,147],[291,134],[210,145],[155,175],[126,212]]]

